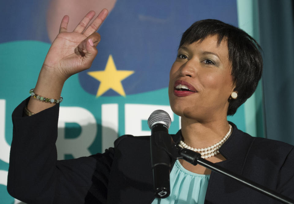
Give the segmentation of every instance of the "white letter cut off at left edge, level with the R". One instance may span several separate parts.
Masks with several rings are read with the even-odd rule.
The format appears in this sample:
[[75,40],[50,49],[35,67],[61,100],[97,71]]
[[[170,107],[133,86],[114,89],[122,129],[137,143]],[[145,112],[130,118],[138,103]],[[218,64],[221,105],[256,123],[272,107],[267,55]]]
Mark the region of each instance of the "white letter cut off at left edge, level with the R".
[[6,100],[0,99],[0,159],[9,163],[10,145],[5,139]]

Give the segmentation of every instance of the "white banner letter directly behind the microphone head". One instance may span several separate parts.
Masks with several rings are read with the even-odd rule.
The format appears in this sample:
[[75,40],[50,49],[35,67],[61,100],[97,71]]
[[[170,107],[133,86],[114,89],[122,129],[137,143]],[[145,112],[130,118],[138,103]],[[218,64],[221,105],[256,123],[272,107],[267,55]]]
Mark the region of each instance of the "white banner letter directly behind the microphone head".
[[142,130],[142,120],[147,121],[150,114],[158,109],[168,112],[171,121],[174,121],[174,113],[170,106],[125,104],[125,134],[134,136],[150,135],[151,131]]

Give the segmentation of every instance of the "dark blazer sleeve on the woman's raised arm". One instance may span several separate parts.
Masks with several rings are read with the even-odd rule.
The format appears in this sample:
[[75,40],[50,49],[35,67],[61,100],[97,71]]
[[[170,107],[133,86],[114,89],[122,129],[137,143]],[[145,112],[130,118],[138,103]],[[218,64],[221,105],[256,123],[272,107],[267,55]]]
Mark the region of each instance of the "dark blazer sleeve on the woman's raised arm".
[[22,117],[29,98],[13,111],[7,190],[26,203],[104,203],[114,149],[57,160],[59,104]]

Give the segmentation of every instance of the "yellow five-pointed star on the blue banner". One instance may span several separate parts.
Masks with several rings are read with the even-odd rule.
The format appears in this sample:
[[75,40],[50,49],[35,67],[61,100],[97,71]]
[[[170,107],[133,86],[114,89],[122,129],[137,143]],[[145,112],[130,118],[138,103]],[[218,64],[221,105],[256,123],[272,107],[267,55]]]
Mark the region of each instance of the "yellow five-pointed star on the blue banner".
[[121,81],[133,73],[134,71],[117,70],[112,56],[109,55],[104,71],[88,72],[87,74],[100,81],[96,94],[96,97],[99,97],[109,89],[116,91],[122,96],[126,96]]

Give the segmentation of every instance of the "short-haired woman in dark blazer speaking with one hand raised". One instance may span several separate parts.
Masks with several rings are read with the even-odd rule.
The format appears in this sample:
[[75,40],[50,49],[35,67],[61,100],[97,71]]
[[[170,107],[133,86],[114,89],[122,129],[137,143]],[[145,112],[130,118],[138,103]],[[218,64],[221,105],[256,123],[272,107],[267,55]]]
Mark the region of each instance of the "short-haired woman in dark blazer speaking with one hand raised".
[[[104,154],[56,161],[63,83],[91,66],[100,41],[96,30],[107,13],[102,10],[86,28],[95,15],[89,12],[71,33],[69,17],[63,17],[32,97],[13,112],[9,193],[27,203],[274,203],[183,160],[172,161],[171,195],[155,199],[149,136],[124,135]],[[219,166],[293,198],[293,146],[253,138],[227,121],[261,77],[258,48],[245,32],[218,20],[198,21],[183,34],[169,83],[171,108],[181,116],[182,129],[172,138]],[[44,96],[52,103],[40,101]]]

